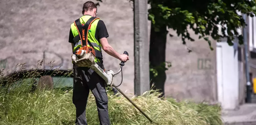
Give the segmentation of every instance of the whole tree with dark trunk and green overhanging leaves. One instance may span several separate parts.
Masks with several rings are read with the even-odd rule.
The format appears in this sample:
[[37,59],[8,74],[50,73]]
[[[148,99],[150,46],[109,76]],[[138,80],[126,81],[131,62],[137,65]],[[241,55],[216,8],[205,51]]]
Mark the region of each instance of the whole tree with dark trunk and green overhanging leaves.
[[[176,30],[178,36],[182,36],[184,45],[187,40],[194,41],[188,33],[188,28],[192,29],[195,34],[199,34],[199,39],[207,41],[213,50],[209,37],[216,41],[227,38],[230,46],[233,45],[231,41],[237,37],[239,44],[243,44],[243,36],[239,35],[236,29],[246,24],[242,15],[237,12],[251,17],[256,13],[254,0],[148,0],[148,4],[151,5],[148,10],[148,19],[151,20],[150,79],[151,85],[155,82],[155,89],[162,89],[161,92],[164,90],[167,69],[166,26]],[[218,34],[218,25],[222,26],[222,34]]]

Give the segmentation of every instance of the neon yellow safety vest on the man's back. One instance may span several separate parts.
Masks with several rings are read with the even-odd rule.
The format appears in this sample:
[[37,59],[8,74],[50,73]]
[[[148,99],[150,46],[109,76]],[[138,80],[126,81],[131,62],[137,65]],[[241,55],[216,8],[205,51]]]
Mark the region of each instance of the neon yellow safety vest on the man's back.
[[[88,35],[86,34],[87,33],[87,29],[85,29],[85,37],[87,35],[87,46],[90,46],[92,45],[94,50],[95,50],[95,62],[98,62],[98,60],[102,60],[102,53],[101,53],[101,44],[99,41],[97,41],[97,39],[95,38],[95,32],[96,32],[96,28],[97,28],[97,24],[98,24],[98,21],[99,19],[96,19],[95,17],[92,17],[90,15],[84,15],[82,16],[81,18],[77,19],[75,22],[76,22],[76,25],[78,27],[85,27],[86,26],[88,27],[89,24],[91,23],[90,27],[88,27]],[[89,24],[88,24],[89,23]],[[83,36],[81,34],[81,30],[80,30],[80,35],[78,33],[78,30],[77,30],[77,27],[76,27],[75,23],[72,23],[71,24],[71,30],[72,30],[72,33],[74,35],[74,39],[73,39],[73,42],[74,42],[74,50],[73,52],[75,52],[76,50],[78,50],[79,48],[82,47],[82,44],[83,42],[81,42],[80,39],[83,39]],[[86,38],[85,38],[86,39]],[[82,41],[85,41],[85,43],[83,44],[83,46],[86,45],[86,40],[82,40]],[[98,59],[98,60],[97,60]]]

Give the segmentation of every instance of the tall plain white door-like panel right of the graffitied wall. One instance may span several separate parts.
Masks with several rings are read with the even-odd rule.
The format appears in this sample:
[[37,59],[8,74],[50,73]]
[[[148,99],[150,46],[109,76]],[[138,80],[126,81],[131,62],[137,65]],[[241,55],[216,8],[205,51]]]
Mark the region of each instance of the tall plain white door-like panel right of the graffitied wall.
[[239,105],[238,52],[236,46],[226,41],[217,43],[218,101],[223,109],[235,109]]

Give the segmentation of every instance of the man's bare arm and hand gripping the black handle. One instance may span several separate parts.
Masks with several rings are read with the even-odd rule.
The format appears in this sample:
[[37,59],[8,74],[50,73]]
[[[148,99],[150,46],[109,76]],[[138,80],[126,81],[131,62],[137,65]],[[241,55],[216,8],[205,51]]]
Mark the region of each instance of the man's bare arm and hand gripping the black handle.
[[111,55],[123,62],[126,62],[127,60],[129,60],[129,57],[126,54],[121,55],[118,52],[116,52],[113,49],[113,47],[108,44],[108,40],[105,37],[100,39],[100,43],[102,45],[102,49],[109,55]]

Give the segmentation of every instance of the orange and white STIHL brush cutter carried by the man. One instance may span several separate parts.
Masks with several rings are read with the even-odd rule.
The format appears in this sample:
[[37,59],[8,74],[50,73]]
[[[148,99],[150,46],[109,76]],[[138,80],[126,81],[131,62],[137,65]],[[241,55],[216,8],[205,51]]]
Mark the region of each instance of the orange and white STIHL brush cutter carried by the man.
[[[128,55],[128,53],[126,51],[124,51],[124,54]],[[150,120],[151,123],[153,123],[153,120],[146,114],[144,113],[144,111],[142,111],[132,100],[130,100],[129,97],[127,97],[126,94],[123,93],[123,91],[121,91],[118,86],[120,86],[122,84],[123,81],[123,72],[122,72],[122,68],[124,66],[124,62],[121,62],[120,65],[120,69],[118,70],[118,72],[114,73],[112,70],[108,70],[107,73],[100,68],[99,65],[97,65],[94,62],[95,59],[95,52],[94,49],[92,47],[82,47],[81,49],[77,50],[76,54],[73,54],[71,56],[72,61],[78,65],[79,67],[89,67],[92,68],[97,74],[99,74],[99,76],[101,76],[104,80],[105,80],[105,85],[106,86],[113,86],[115,87],[127,100],[129,100],[146,118],[148,118],[148,120]],[[122,74],[122,80],[120,85],[115,86],[115,84],[113,83],[113,77],[115,75],[117,75],[118,73]]]

